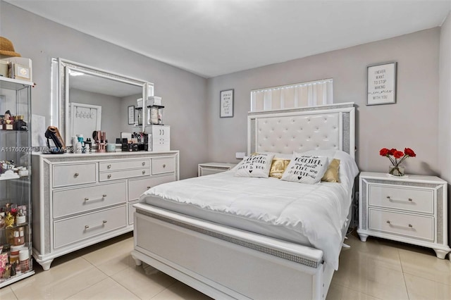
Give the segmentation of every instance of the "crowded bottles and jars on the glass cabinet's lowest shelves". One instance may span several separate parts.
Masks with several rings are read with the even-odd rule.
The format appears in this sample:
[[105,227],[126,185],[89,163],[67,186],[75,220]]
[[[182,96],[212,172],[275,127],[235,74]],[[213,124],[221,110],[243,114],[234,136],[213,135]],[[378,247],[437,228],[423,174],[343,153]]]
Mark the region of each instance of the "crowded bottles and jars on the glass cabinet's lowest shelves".
[[25,205],[0,208],[0,282],[30,270],[26,212]]

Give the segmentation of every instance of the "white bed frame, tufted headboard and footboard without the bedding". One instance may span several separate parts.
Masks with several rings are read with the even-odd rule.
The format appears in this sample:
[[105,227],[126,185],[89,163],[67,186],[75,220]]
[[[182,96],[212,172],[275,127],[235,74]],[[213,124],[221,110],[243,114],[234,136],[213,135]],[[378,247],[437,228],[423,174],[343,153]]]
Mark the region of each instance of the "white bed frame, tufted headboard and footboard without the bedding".
[[[252,112],[247,151],[340,149],[354,157],[354,124],[354,104],[349,103]],[[215,299],[326,298],[333,268],[319,249],[148,204],[135,208],[132,257],[137,265],[152,265]]]

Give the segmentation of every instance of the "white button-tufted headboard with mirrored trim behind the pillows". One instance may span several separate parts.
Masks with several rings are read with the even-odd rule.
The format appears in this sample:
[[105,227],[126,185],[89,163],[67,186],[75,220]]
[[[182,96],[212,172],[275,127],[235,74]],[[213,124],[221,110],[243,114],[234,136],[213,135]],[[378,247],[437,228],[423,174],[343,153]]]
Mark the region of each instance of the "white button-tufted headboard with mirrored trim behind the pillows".
[[339,149],[355,158],[353,103],[248,113],[247,153],[314,149]]

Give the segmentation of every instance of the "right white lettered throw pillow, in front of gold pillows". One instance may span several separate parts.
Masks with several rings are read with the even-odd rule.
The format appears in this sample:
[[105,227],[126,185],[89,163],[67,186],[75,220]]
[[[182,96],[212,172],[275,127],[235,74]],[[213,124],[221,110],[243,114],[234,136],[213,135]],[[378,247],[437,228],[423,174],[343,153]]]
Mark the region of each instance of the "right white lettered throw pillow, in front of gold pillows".
[[281,180],[313,185],[320,182],[328,166],[328,158],[314,155],[295,155]]

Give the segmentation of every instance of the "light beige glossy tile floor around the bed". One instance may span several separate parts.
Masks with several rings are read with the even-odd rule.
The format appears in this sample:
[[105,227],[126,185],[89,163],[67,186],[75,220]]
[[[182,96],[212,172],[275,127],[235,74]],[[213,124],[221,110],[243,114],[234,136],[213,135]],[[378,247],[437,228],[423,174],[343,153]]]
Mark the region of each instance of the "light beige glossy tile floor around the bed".
[[[451,263],[433,250],[369,237],[347,239],[327,299],[451,299]],[[132,235],[56,258],[49,271],[0,289],[16,299],[209,299],[149,265],[135,266]],[[302,299],[302,296],[299,296]]]

